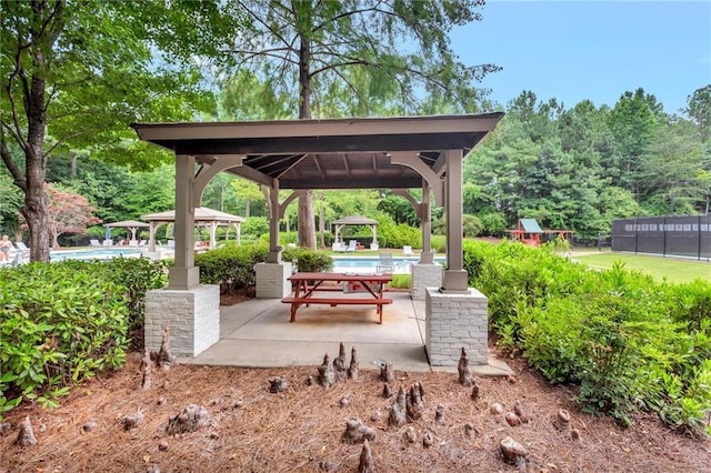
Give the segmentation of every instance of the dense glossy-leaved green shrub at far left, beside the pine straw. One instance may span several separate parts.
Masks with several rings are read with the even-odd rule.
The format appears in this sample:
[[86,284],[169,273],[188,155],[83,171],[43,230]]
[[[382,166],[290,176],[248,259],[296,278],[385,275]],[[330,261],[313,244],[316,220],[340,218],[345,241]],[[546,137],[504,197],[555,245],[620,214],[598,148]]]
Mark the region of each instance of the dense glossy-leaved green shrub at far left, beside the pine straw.
[[0,270],[0,412],[22,400],[56,405],[72,383],[123,364],[129,295],[101,264]]

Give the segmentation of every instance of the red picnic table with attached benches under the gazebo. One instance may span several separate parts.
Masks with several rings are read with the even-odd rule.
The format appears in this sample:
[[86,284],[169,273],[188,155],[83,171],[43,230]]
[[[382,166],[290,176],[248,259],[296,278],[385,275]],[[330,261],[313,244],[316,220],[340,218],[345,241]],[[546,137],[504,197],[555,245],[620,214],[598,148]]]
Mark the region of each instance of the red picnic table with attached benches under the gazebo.
[[[291,304],[291,322],[297,320],[299,308],[310,304],[337,305],[375,305],[378,323],[382,324],[382,306],[391,304],[392,299],[383,296],[385,283],[392,281],[392,274],[348,274],[348,273],[296,273],[289,278],[294,283],[292,296],[283,298],[281,302]],[[343,285],[329,285],[334,282]],[[320,292],[358,292],[360,298],[346,295],[319,294]],[[365,296],[362,296],[365,295]]]

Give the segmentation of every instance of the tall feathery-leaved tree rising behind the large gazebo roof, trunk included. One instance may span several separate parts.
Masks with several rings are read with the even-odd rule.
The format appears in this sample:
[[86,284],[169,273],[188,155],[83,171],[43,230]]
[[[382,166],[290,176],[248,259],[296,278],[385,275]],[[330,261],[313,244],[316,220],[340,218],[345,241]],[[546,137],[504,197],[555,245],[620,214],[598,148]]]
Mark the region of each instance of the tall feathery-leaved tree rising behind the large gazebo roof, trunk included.
[[[300,119],[312,118],[313,110],[322,115],[322,104],[333,113],[338,103],[363,114],[373,104],[397,103],[407,113],[417,110],[423,93],[447,95],[471,112],[481,98],[474,81],[495,70],[458,62],[449,46],[451,28],[479,20],[483,1],[233,3],[249,12],[252,30],[238,37],[232,52],[263,84],[266,103],[298,98]],[[299,200],[299,242],[316,248],[312,192]]]

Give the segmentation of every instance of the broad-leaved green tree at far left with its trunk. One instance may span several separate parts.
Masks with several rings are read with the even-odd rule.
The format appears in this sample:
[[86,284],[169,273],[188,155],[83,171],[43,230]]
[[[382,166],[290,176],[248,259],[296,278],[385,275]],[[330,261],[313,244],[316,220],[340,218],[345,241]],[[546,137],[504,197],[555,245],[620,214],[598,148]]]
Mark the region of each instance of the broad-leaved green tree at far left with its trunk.
[[[134,139],[133,121],[192,118],[209,105],[196,88],[194,62],[170,63],[147,19],[161,2],[73,0],[0,4],[0,155],[24,193],[30,259],[49,260],[47,160],[59,150],[91,149],[116,162],[152,167],[167,152]],[[149,8],[147,8],[149,7]],[[152,8],[156,7],[156,8]],[[191,33],[191,32],[190,32]],[[174,30],[169,46],[186,43]],[[13,158],[21,151],[24,163]],[[149,159],[149,157],[151,159]]]

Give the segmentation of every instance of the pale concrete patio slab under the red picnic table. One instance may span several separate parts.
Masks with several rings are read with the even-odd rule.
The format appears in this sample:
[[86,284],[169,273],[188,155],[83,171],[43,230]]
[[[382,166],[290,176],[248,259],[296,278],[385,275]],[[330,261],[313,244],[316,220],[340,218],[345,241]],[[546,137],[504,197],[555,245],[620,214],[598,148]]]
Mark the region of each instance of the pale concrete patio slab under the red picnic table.
[[[350,360],[351,346],[358,350],[361,369],[379,369],[383,361],[398,371],[457,371],[430,366],[424,349],[424,301],[408,292],[389,292],[393,300],[377,323],[374,306],[312,305],[301,308],[297,321],[289,322],[289,304],[274,299],[251,299],[220,308],[220,341],[183,363],[246,368],[314,366],[323,354],[338,355],[343,342]],[[511,374],[495,359],[489,365],[470,366],[483,375]]]

